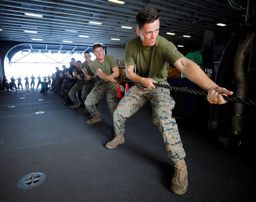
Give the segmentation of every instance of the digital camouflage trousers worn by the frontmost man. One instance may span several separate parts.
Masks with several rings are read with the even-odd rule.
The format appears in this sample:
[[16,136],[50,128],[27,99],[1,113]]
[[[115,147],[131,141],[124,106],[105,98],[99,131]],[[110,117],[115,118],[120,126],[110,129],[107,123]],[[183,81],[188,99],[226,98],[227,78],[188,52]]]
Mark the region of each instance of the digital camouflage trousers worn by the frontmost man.
[[[167,82],[161,83],[168,84]],[[151,104],[153,122],[162,134],[168,157],[172,161],[183,159],[185,151],[177,129],[176,120],[172,117],[175,101],[168,89],[162,87],[147,89],[141,84],[131,87],[114,111],[115,134],[125,134],[126,118],[137,112],[147,101]]]

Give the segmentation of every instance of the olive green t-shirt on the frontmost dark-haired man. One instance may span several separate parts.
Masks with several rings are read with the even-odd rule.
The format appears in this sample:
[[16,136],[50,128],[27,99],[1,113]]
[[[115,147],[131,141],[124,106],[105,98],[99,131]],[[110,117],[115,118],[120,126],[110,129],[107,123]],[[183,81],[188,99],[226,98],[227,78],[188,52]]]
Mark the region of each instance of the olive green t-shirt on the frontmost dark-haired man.
[[166,63],[174,64],[183,57],[175,45],[162,36],[158,36],[155,45],[143,47],[140,37],[135,37],[126,44],[125,65],[137,65],[140,77],[155,81],[166,81]]

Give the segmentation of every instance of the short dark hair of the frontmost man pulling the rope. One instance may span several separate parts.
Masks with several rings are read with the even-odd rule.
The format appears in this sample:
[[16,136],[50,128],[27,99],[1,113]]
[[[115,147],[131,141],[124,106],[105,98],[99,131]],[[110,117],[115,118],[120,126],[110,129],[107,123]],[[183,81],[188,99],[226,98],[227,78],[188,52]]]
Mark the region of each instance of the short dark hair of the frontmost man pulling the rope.
[[136,16],[137,27],[141,29],[144,24],[152,23],[160,18],[159,10],[152,7],[144,7],[141,9]]

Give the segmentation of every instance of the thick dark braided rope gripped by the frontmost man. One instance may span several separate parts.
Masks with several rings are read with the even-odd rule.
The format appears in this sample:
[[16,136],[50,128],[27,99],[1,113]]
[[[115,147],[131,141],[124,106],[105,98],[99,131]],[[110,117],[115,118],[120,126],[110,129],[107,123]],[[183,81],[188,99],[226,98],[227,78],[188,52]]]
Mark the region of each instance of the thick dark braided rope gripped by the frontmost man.
[[[135,83],[134,81],[131,81],[130,79],[115,79],[117,81],[121,82],[126,82],[126,83]],[[170,90],[175,90],[175,91],[180,91],[180,92],[187,92],[190,94],[195,94],[195,95],[205,95],[207,96],[207,92],[203,90],[194,90],[194,89],[187,89],[186,87],[179,87],[179,86],[171,86],[171,85],[165,85],[165,84],[160,84],[160,83],[153,83],[156,87],[163,87],[165,89],[170,89]],[[244,100],[241,98],[236,98],[234,96],[223,96],[225,100],[231,101],[231,102],[236,102],[240,104],[247,104],[251,106],[256,106],[256,103],[253,102],[252,100]]]

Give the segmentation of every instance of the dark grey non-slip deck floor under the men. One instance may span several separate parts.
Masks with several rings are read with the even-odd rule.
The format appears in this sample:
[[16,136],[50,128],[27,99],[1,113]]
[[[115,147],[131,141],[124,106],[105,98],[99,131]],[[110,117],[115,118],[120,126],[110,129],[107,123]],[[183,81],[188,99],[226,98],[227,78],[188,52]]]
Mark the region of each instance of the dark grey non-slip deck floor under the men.
[[[103,122],[88,125],[81,108],[64,106],[52,92],[0,92],[0,201],[255,201],[252,153],[222,149],[180,124],[189,186],[175,195],[150,105],[127,119],[126,142],[113,150],[104,146],[114,133],[105,99],[100,106]],[[18,188],[32,172],[46,179]]]

